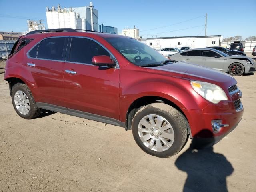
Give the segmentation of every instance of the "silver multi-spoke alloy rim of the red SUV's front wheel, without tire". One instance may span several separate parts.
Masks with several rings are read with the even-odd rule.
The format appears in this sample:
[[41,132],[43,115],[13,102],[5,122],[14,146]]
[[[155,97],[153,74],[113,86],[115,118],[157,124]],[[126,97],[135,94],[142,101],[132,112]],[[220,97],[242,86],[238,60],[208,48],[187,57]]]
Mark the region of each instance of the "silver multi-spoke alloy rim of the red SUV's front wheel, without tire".
[[144,116],[138,125],[138,134],[143,144],[153,151],[168,150],[174,142],[172,125],[162,116]]

